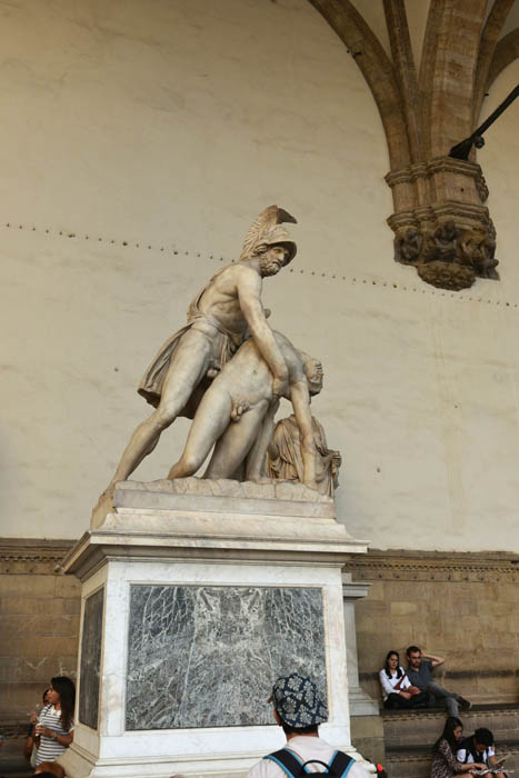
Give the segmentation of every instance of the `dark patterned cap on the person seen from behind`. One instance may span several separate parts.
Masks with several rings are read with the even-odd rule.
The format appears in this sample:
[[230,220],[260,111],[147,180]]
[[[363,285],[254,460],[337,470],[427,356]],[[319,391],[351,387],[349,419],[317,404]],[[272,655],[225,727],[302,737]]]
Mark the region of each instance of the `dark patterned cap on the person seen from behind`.
[[317,686],[299,672],[278,678],[270,700],[281,721],[293,729],[315,727],[328,721],[328,710],[321,702]]

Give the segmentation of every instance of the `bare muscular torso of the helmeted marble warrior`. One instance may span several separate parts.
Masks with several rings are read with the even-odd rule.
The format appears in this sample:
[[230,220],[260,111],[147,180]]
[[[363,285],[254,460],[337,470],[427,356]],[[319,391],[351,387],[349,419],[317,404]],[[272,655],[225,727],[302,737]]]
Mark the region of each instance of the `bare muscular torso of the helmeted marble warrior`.
[[239,283],[246,273],[254,273],[259,278],[257,271],[246,265],[228,265],[210,279],[198,301],[202,313],[212,317],[236,336],[241,336],[247,328],[239,300]]

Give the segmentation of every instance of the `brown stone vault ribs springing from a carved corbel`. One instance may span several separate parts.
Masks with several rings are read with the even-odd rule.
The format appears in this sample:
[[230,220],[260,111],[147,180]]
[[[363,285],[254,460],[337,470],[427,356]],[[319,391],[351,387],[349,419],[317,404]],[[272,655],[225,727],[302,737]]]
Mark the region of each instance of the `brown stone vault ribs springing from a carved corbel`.
[[519,56],[519,30],[499,40],[513,0],[431,0],[417,73],[405,0],[382,0],[391,53],[350,0],[310,0],[348,48],[386,132],[395,259],[435,286],[498,279],[488,190],[476,161],[449,157],[477,127],[486,90]]

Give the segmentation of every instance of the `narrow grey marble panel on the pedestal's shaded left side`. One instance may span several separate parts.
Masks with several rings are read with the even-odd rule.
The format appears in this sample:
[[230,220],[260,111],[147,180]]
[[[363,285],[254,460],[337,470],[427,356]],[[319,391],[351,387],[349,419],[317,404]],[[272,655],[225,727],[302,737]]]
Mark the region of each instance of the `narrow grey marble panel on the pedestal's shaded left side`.
[[83,611],[79,670],[79,720],[92,729],[98,728],[103,600],[104,590],[99,589],[87,598]]

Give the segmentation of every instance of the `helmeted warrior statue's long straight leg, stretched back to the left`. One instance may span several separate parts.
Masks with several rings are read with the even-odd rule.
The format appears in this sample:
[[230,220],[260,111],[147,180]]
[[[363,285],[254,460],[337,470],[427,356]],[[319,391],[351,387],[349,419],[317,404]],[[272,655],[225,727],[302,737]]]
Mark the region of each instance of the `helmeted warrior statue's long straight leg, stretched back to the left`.
[[162,430],[174,421],[206,375],[209,356],[210,345],[203,335],[188,330],[182,336],[169,366],[159,407],[134,430],[111,485],[126,480],[153,450]]

